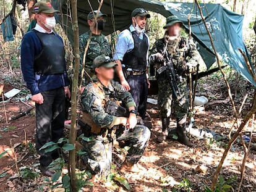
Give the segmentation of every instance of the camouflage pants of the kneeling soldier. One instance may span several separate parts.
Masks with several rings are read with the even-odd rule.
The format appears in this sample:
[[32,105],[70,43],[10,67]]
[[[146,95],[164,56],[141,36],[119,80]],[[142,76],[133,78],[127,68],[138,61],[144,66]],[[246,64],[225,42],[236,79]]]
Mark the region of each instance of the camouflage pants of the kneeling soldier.
[[[143,125],[136,125],[133,130],[116,130],[119,146],[129,146],[126,161],[137,163],[142,157],[150,138],[150,130]],[[85,143],[85,164],[95,174],[106,176],[111,170],[112,143],[104,141],[102,135],[93,136],[93,141]]]

